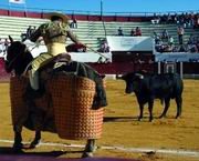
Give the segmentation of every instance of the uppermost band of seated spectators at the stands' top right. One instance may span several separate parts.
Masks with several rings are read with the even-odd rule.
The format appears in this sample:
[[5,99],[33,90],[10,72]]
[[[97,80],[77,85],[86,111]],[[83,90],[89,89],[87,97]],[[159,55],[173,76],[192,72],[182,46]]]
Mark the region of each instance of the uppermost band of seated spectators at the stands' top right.
[[199,28],[199,13],[186,12],[186,13],[175,13],[175,14],[156,14],[151,19],[153,24],[169,24],[176,23],[178,26],[182,26],[184,28]]

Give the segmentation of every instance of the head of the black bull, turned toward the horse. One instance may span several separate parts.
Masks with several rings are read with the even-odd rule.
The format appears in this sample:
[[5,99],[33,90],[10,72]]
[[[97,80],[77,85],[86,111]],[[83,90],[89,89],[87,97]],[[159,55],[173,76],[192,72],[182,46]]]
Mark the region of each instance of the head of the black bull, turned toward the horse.
[[117,79],[123,79],[126,82],[126,93],[137,92],[140,88],[140,82],[144,79],[144,74],[142,73],[127,73],[122,77],[117,77]]

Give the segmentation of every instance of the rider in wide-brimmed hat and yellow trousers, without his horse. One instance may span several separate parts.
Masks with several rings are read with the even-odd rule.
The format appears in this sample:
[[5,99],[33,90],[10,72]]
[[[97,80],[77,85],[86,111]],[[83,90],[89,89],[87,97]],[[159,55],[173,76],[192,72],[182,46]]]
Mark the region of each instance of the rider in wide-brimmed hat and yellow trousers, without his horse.
[[[31,34],[30,40],[35,42],[40,37],[43,38],[48,48],[46,53],[40,54],[35,58],[31,66],[32,70],[29,72],[30,83],[32,89],[39,89],[39,73],[38,69],[50,62],[53,57],[65,53],[65,42],[70,38],[73,42],[80,44],[77,38],[73,34],[69,27],[69,17],[59,12],[53,12],[48,16],[51,22],[41,24],[39,29]],[[70,56],[67,57],[70,61]]]

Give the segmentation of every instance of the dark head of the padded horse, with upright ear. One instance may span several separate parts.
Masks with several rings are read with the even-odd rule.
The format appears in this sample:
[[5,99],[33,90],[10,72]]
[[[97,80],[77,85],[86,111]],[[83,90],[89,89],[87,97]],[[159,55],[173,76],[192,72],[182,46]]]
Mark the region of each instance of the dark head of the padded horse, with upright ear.
[[9,39],[11,43],[7,50],[6,70],[7,72],[14,70],[15,74],[21,74],[33,57],[24,43],[13,41],[10,36]]

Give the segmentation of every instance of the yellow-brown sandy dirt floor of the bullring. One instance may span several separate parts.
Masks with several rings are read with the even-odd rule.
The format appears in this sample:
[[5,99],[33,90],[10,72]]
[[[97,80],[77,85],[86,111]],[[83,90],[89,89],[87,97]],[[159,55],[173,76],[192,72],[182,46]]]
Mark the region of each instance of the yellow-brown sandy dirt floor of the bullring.
[[[107,80],[106,90],[108,107],[105,108],[102,139],[97,140],[98,149],[95,157],[139,159],[144,161],[199,161],[198,157],[182,155],[179,153],[135,152],[130,148],[145,148],[156,150],[178,150],[199,152],[199,80],[184,80],[182,117],[176,115],[176,103],[172,100],[168,117],[158,119],[163,105],[157,100],[154,107],[153,122],[148,122],[148,108],[145,108],[144,119],[137,121],[138,104],[134,94],[125,94],[125,83],[122,80]],[[0,83],[0,140],[13,140],[9,83]],[[34,133],[23,130],[23,140],[31,141]],[[84,144],[85,141],[62,140],[56,134],[43,132],[42,142]],[[0,141],[0,152],[7,152],[11,143]],[[107,149],[107,147],[109,149]],[[119,147],[114,148],[114,147]],[[122,149],[124,148],[124,149]],[[48,154],[55,153],[62,158],[80,158],[82,148],[74,147],[46,147],[41,145],[25,153]]]

